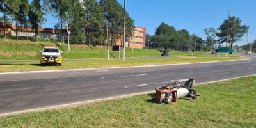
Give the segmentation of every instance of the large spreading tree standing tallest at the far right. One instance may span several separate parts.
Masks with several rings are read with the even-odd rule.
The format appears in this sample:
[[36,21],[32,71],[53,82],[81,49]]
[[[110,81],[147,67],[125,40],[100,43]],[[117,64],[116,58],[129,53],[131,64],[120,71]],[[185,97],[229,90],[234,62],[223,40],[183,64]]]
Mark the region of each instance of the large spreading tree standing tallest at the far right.
[[230,49],[232,49],[233,43],[241,40],[244,34],[248,33],[248,29],[249,26],[242,25],[242,20],[239,17],[230,17],[229,21],[227,19],[224,20],[218,28],[219,32],[216,33],[219,37],[218,42],[219,44],[227,42],[230,45]]

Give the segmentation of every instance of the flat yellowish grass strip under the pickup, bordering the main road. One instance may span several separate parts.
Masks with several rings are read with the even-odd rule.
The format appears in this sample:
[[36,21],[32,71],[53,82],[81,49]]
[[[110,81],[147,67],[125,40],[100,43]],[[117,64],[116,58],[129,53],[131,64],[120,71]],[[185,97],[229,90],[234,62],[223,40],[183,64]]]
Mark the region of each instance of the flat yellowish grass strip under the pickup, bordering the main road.
[[10,62],[0,63],[0,72],[22,72],[32,70],[63,70],[63,69],[83,69],[83,68],[102,68],[102,67],[130,67],[138,65],[157,65],[157,64],[175,64],[175,63],[194,63],[205,61],[225,61],[237,60],[239,56],[230,56],[229,58],[218,58],[215,55],[201,56],[179,56],[173,58],[127,58],[125,61],[118,59],[99,59],[99,60],[80,60],[63,61],[62,66],[46,65],[41,66],[40,61],[32,62]]

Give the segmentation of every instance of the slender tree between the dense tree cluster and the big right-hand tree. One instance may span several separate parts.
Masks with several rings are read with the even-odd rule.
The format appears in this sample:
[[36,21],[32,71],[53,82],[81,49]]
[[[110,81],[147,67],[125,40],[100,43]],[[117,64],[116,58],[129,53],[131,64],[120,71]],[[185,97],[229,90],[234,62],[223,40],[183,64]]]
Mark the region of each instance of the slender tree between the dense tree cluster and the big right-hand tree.
[[206,28],[204,29],[205,35],[207,35],[206,38],[206,47],[208,50],[210,50],[216,43],[216,33],[217,31],[214,28]]

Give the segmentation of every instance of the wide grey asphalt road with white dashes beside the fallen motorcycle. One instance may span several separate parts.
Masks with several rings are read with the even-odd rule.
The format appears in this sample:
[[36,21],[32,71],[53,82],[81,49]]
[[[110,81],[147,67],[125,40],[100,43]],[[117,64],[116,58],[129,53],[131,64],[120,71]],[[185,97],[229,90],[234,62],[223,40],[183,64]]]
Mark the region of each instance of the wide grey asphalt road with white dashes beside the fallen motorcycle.
[[196,83],[256,74],[248,60],[152,67],[0,74],[0,114],[152,91],[169,81]]

